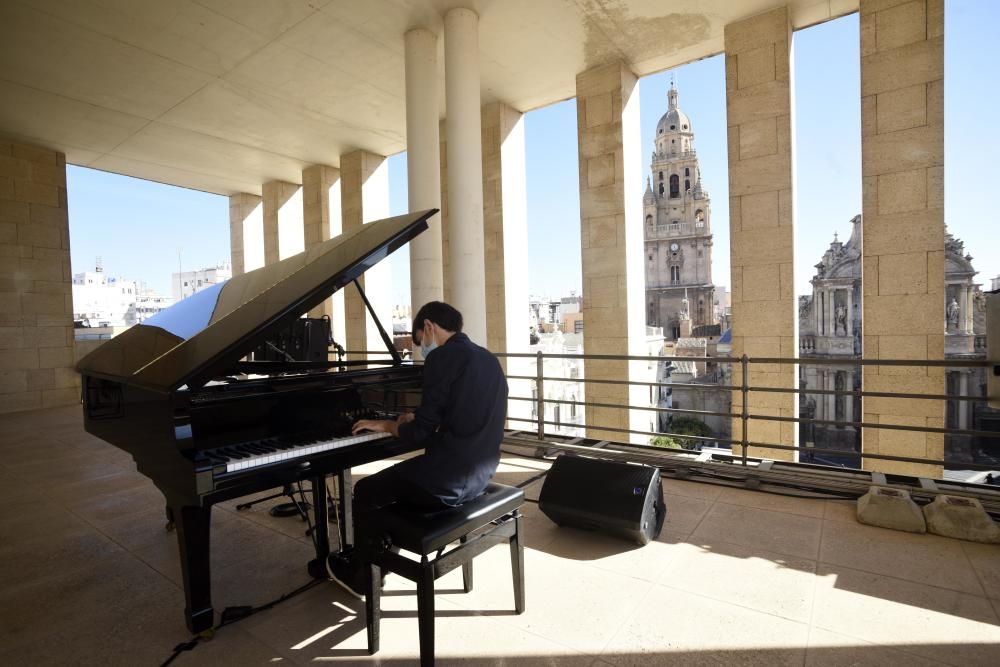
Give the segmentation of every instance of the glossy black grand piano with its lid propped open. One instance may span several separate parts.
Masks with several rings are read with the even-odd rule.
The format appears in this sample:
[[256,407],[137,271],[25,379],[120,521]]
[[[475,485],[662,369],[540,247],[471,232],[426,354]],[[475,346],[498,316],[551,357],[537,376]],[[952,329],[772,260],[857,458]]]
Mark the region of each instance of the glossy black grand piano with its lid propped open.
[[[77,368],[84,427],[129,452],[163,493],[180,549],[185,622],[214,627],[212,505],[312,482],[316,560],[330,554],[326,478],[405,453],[387,434],[351,435],[359,418],[411,408],[419,365],[403,363],[358,278],[427,229],[436,209],[386,218],[198,292],[101,345]],[[391,361],[254,362],[246,358],[338,289],[354,283]],[[349,360],[347,364],[351,364]],[[341,542],[350,488],[341,487]]]

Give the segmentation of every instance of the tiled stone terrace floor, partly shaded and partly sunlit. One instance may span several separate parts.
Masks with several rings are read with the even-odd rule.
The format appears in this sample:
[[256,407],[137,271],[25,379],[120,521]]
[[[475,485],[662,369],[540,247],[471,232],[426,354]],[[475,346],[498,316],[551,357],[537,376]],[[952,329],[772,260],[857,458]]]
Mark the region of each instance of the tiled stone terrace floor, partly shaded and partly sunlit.
[[[506,457],[500,479],[544,466]],[[472,593],[459,571],[442,578],[438,663],[1000,664],[1000,547],[863,526],[839,501],[664,490],[666,528],[643,548],[558,529],[529,503],[527,611],[513,614],[505,547],[476,560]],[[302,524],[266,510],[215,511],[217,609],[307,581]],[[79,408],[0,417],[0,664],[160,664],[187,638],[176,549],[158,492],[83,432]],[[413,588],[390,577],[383,601],[374,657],[362,605],[322,584],[174,664],[414,664]]]

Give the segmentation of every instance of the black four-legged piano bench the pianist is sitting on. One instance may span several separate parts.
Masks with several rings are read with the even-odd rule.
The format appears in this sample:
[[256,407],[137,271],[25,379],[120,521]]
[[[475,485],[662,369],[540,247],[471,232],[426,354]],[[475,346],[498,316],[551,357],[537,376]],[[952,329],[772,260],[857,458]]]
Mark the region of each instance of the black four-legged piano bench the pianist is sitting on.
[[[486,487],[483,495],[460,507],[422,513],[389,505],[375,512],[371,534],[387,536],[393,547],[419,555],[420,561],[389,550],[372,557],[365,597],[368,653],[374,654],[379,648],[379,584],[383,572],[395,572],[417,584],[421,665],[434,664],[434,581],[461,566],[463,588],[468,593],[472,590],[472,559],[496,544],[506,542],[510,545],[514,609],[522,613],[524,543],[521,541],[519,508],[523,504],[522,489],[493,483]],[[446,550],[455,540],[459,544]]]

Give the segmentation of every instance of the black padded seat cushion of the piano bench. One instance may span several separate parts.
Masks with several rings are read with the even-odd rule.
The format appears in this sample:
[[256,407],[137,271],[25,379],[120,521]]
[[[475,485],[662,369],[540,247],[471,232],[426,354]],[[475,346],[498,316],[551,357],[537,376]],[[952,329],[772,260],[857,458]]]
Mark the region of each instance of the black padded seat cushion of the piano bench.
[[459,507],[421,512],[389,505],[372,514],[373,534],[388,534],[393,546],[420,555],[437,551],[524,504],[524,490],[491,483],[483,495]]

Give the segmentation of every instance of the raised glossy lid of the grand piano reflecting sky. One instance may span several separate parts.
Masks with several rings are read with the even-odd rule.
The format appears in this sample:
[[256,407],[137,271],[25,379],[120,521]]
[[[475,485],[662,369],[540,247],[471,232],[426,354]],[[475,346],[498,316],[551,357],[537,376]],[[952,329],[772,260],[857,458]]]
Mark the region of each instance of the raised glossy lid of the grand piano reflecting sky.
[[200,386],[427,229],[435,213],[371,222],[198,292],[102,344],[77,370],[163,392]]

